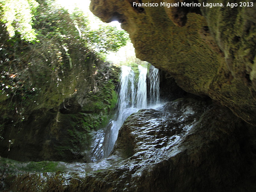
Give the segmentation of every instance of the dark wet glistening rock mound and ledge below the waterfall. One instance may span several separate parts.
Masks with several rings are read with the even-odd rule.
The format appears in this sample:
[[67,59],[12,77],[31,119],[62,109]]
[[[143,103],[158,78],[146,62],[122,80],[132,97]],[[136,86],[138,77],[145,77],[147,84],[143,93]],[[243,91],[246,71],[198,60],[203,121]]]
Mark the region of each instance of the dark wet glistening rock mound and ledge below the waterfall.
[[58,172],[5,171],[4,191],[255,191],[255,133],[211,100],[132,114],[109,158]]

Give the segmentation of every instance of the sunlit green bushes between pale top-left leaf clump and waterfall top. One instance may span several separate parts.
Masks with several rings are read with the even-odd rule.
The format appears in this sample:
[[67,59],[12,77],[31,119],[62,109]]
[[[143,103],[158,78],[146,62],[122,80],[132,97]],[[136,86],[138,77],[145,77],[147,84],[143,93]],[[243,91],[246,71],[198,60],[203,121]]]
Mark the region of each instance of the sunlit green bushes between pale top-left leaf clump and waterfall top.
[[129,38],[125,31],[107,24],[101,25],[99,29],[91,29],[88,18],[78,8],[69,14],[52,1],[42,2],[34,21],[39,35],[58,37],[60,41],[76,39],[76,44],[100,53],[116,52]]

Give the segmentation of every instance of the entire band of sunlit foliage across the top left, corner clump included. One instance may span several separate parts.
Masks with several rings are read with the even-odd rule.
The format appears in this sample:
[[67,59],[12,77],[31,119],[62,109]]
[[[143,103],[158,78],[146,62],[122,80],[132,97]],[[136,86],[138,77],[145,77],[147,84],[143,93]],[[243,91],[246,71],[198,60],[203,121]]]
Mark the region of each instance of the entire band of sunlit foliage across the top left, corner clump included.
[[[0,21],[6,26],[10,37],[15,32],[28,42],[36,40],[36,35],[60,40],[75,38],[83,46],[99,52],[116,52],[126,44],[128,34],[115,27],[102,25],[92,30],[88,19],[78,8],[69,14],[58,7],[54,1],[38,0],[2,0],[0,1]],[[34,19],[32,23],[32,18]],[[32,28],[33,26],[33,28]],[[40,41],[38,38],[36,41]]]

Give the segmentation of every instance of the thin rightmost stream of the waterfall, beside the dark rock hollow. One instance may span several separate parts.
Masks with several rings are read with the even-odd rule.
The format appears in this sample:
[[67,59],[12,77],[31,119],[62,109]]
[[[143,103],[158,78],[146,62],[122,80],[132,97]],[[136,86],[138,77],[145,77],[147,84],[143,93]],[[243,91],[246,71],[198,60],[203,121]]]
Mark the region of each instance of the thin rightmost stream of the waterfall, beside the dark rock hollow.
[[159,100],[159,70],[153,65],[149,67],[149,83],[150,83],[150,105],[156,105],[160,102]]

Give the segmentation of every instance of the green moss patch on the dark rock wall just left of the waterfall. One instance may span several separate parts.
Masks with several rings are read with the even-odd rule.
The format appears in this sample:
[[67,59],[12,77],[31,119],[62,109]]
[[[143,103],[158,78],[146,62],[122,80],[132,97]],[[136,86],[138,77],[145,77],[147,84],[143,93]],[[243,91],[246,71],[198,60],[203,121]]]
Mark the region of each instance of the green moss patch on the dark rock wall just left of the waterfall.
[[[112,80],[100,84],[101,89],[89,94],[88,103],[82,112],[76,114],[60,114],[58,127],[59,140],[54,143],[57,155],[82,158],[82,151],[88,150],[92,130],[105,127],[116,107],[118,95]],[[70,158],[69,158],[70,159]]]

